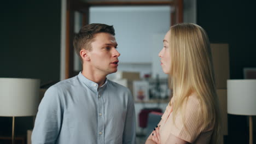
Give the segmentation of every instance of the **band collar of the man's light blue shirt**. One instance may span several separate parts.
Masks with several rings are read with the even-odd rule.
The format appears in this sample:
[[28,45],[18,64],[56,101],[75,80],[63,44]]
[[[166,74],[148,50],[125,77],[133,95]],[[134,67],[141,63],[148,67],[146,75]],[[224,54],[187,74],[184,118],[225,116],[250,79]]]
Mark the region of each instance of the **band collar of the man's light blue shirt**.
[[[82,81],[86,86],[90,87],[91,89],[94,89],[94,90],[96,90],[96,91],[98,90],[98,83],[87,79],[87,78],[82,74],[81,71],[80,71],[79,74],[78,74],[78,79],[79,79],[80,81]],[[105,83],[99,88],[99,90],[105,88],[105,87],[107,86],[107,83],[108,83],[108,79],[106,78]]]

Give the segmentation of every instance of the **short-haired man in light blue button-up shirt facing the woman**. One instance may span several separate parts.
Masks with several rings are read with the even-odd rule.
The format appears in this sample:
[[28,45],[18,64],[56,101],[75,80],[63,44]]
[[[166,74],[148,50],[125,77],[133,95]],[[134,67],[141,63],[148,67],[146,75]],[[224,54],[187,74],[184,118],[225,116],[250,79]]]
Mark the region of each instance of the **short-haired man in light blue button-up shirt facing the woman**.
[[82,63],[77,76],[51,86],[41,101],[32,143],[135,143],[135,109],[128,88],[106,79],[118,69],[113,26],[92,23],[73,45]]

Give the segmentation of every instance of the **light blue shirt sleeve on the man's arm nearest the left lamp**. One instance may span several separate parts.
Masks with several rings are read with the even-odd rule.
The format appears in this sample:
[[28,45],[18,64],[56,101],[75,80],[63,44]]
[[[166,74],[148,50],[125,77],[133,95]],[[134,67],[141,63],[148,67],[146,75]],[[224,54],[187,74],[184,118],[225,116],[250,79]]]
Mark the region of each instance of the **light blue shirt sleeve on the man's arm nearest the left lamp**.
[[50,87],[38,107],[31,140],[37,143],[55,143],[61,128],[61,100],[56,87]]

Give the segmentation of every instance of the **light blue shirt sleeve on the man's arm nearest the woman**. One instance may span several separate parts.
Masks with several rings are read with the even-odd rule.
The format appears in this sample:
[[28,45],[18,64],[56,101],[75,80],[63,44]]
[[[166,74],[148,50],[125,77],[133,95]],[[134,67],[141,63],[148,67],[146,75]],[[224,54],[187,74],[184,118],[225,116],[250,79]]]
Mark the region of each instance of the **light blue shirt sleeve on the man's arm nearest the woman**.
[[129,91],[129,101],[125,118],[123,143],[136,143],[136,118],[133,97]]

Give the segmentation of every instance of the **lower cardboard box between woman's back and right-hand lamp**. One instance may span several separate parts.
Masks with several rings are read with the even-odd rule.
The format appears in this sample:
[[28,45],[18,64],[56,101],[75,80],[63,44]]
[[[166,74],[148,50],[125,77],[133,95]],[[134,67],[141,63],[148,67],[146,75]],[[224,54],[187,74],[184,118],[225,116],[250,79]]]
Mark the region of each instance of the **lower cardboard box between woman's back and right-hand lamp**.
[[219,98],[223,135],[228,135],[228,111],[227,111],[227,91],[226,91],[226,89],[217,89],[217,95]]

